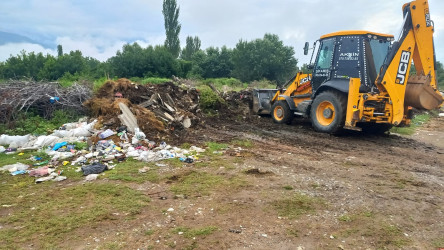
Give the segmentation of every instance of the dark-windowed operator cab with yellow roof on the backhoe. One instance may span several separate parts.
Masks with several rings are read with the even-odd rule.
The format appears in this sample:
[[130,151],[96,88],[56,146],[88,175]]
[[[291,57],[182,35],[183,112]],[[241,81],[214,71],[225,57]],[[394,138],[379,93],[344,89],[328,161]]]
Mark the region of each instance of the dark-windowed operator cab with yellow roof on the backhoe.
[[315,43],[316,47],[319,42],[312,66],[313,93],[324,84],[348,92],[350,78],[361,79],[360,92],[376,91],[375,81],[393,40],[392,35],[368,31],[341,31],[322,36]]

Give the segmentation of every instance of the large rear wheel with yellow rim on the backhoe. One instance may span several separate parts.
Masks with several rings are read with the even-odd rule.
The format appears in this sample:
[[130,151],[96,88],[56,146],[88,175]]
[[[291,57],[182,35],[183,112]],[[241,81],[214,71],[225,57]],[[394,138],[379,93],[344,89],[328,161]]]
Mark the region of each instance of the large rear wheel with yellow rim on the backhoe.
[[325,91],[313,101],[311,123],[316,131],[336,134],[342,130],[347,109],[346,96],[336,91]]

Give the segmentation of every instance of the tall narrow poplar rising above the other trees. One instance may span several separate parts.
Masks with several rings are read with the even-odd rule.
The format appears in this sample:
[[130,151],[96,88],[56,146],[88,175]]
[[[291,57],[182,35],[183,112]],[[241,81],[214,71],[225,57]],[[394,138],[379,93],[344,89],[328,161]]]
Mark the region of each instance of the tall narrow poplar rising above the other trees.
[[176,0],[163,0],[163,10],[165,19],[165,47],[177,58],[180,52],[179,33],[181,25],[179,23],[179,7]]

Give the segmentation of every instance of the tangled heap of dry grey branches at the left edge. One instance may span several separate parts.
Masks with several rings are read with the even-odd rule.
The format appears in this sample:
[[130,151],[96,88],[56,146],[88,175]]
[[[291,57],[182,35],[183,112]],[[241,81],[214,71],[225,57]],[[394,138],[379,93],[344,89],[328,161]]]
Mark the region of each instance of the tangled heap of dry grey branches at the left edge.
[[57,82],[9,81],[0,84],[0,121],[9,123],[29,110],[45,118],[60,109],[83,114],[82,103],[91,96],[92,89],[84,84],[63,88]]

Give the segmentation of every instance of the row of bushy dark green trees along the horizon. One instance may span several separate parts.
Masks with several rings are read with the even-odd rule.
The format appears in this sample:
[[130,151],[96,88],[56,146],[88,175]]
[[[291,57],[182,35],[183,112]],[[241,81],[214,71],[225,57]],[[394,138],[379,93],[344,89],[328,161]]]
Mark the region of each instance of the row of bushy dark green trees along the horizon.
[[109,77],[179,77],[219,78],[235,77],[241,81],[268,79],[285,81],[296,72],[294,49],[285,46],[277,35],[265,34],[262,39],[239,41],[235,48],[223,46],[200,48],[198,37],[187,37],[179,57],[165,45],[141,47],[125,44],[116,55],[105,62],[82,55],[81,51],[58,56],[27,53],[0,62],[0,78],[32,78],[58,80],[80,77],[97,79]]

